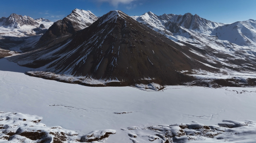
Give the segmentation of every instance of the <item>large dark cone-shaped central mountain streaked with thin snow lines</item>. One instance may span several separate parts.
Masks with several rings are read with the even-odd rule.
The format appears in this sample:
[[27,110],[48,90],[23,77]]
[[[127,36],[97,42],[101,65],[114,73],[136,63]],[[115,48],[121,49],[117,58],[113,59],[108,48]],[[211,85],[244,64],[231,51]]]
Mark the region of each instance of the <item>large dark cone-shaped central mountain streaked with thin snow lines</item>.
[[12,60],[40,71],[81,77],[79,80],[108,80],[107,85],[177,85],[194,80],[180,71],[216,70],[198,62],[204,60],[188,49],[121,11],[111,11],[63,42]]

